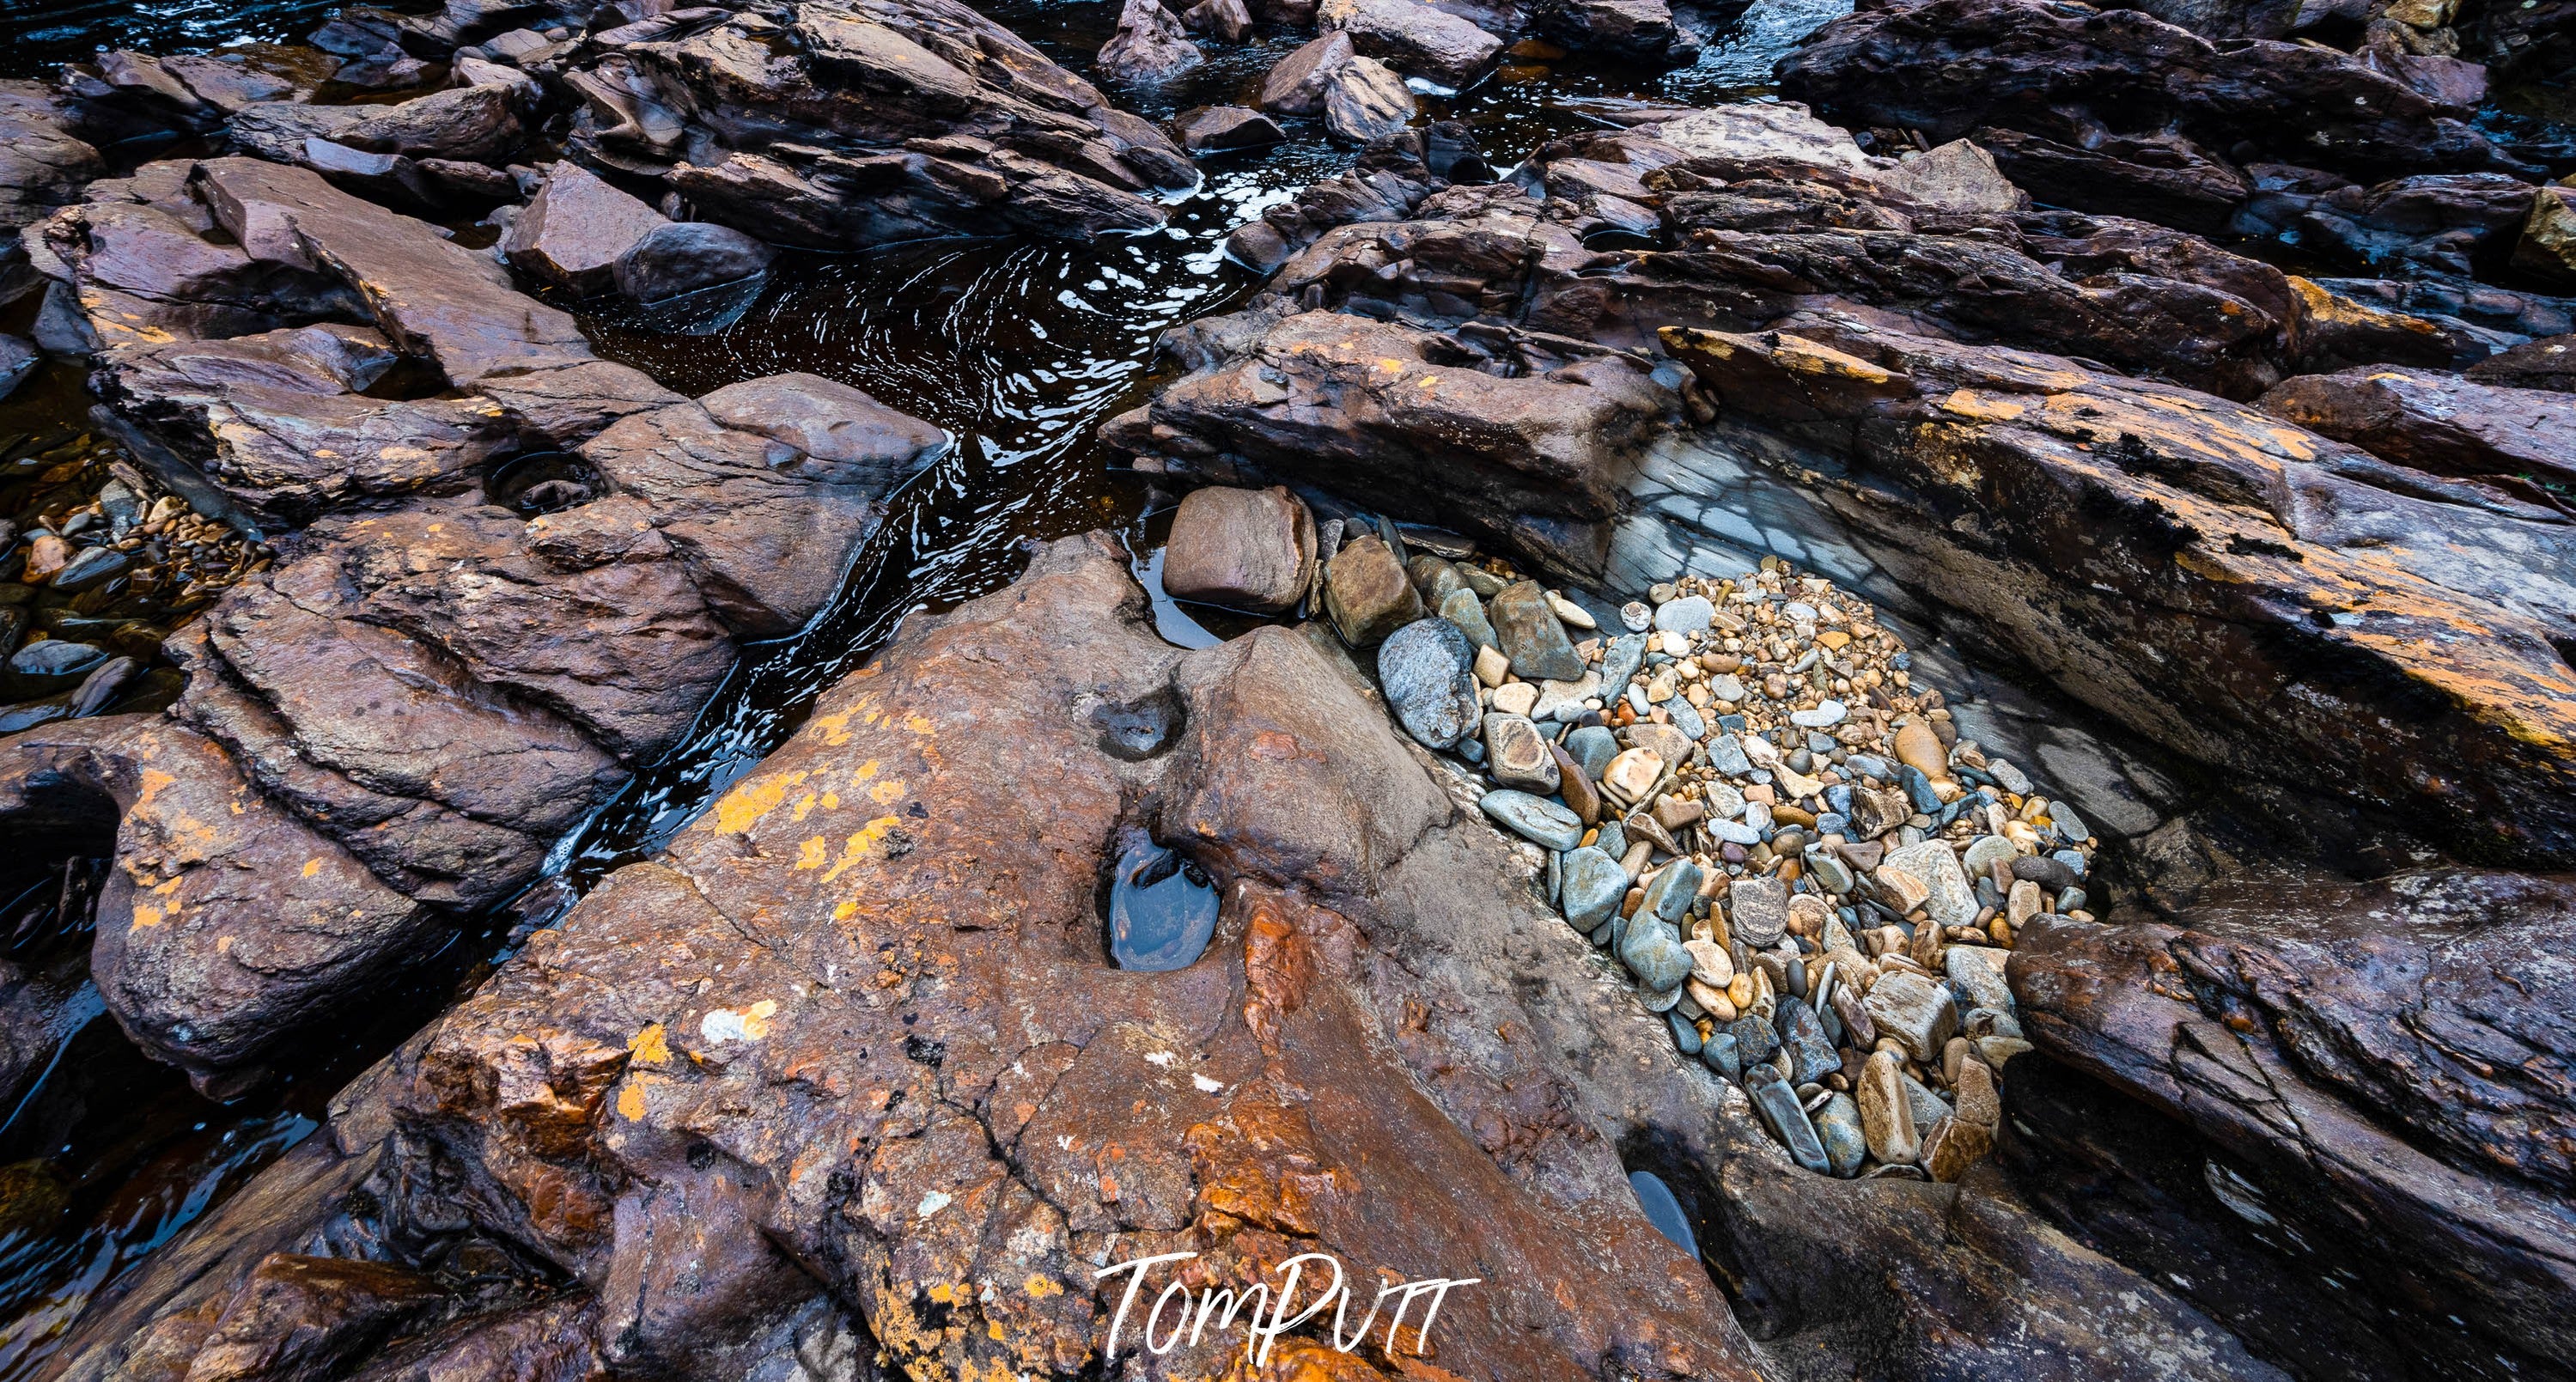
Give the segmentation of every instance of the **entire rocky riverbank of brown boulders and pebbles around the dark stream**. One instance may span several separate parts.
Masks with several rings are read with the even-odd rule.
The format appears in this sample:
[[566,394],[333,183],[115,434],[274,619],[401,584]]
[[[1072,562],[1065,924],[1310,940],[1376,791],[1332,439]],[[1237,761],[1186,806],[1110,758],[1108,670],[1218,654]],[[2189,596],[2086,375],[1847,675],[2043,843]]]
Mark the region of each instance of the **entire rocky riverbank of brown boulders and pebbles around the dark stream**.
[[[2488,90],[2568,15],[2499,15],[1893,0],[1803,106],[1520,142],[1425,113],[1710,18],[1128,0],[1092,85],[953,0],[451,0],[10,85],[0,373],[98,412],[10,476],[62,685],[0,826],[113,857],[52,908],[214,1094],[510,906],[948,453],[569,306],[724,329],[796,252],[1350,149],[1103,430],[1249,633],[1157,638],[1103,535],[907,620],[46,1372],[2566,1377],[2563,888],[2478,870],[2576,849],[2576,149]],[[1110,1359],[1154,1253],[1476,1282]]]

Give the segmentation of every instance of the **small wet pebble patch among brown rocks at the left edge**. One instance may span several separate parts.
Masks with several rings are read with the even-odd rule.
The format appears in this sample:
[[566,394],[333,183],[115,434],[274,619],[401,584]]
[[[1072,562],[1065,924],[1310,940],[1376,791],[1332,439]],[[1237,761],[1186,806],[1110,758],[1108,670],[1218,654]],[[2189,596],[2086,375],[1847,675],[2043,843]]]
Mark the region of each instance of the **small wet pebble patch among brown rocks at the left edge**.
[[162,638],[273,561],[93,432],[0,438],[0,733],[167,705]]

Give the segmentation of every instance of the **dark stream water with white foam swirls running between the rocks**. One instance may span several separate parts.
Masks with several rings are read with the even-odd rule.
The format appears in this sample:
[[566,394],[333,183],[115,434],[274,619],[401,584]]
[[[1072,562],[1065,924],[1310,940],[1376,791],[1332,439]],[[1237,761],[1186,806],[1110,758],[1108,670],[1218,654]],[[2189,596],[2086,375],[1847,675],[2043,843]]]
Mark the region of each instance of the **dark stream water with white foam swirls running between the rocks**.
[[[98,46],[170,54],[237,41],[294,39],[330,5],[237,0],[0,0],[0,77],[41,77]],[[984,5],[1056,62],[1087,72],[1108,39],[1108,0]],[[1476,129],[1507,167],[1540,142],[1595,126],[1582,98],[1716,100],[1754,93],[1803,33],[1850,10],[1847,0],[1765,0],[1718,26],[1698,67],[1641,72],[1582,62],[1520,64],[1455,98],[1425,100],[1432,118]],[[1247,100],[1262,72],[1303,33],[1262,31],[1211,51],[1208,67],[1162,93],[1113,93],[1146,118]],[[1216,49],[1211,44],[1211,49]],[[1025,239],[927,242],[866,255],[788,255],[770,286],[729,324],[672,332],[613,306],[585,306],[595,347],[672,389],[703,394],[781,371],[811,371],[927,417],[956,450],[909,484],[858,556],[840,600],[793,638],[755,646],[714,695],[690,739],[647,767],[549,862],[549,883],[523,916],[544,919],[611,867],[649,854],[732,780],[775,749],[814,697],[878,649],[907,613],[945,607],[1007,584],[1030,540],[1110,528],[1131,535],[1146,569],[1162,497],[1144,476],[1115,474],[1095,430],[1154,386],[1154,337],[1239,306],[1257,278],[1224,260],[1226,232],[1298,188],[1347,167],[1314,121],[1262,154],[1208,160],[1206,183],[1172,203],[1164,229],[1097,244]],[[49,391],[46,396],[64,394]],[[0,404],[0,432],[62,417]],[[59,409],[59,399],[52,404]],[[1188,615],[1170,610],[1188,636]],[[453,955],[425,965],[412,993],[376,1004],[374,1029],[317,1037],[309,1060],[232,1104],[201,1099],[144,1060],[98,1017],[67,1042],[33,1094],[0,1125],[0,1382],[33,1374],[54,1338],[118,1271],[180,1233],[260,1166],[309,1135],[327,1096],[428,1019],[459,975],[489,963],[492,929],[459,934]]]

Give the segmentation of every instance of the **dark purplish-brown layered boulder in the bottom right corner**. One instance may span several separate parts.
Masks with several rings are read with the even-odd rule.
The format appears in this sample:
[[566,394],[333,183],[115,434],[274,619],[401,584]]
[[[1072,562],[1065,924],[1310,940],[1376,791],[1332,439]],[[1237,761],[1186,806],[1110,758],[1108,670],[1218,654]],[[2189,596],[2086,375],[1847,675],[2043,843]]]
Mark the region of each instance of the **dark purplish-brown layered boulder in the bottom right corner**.
[[[2014,1096],[2032,1166],[2133,1145],[2148,1179],[2151,1148],[2187,1140],[2226,1212],[2190,1215],[2172,1184],[2102,1194],[2071,1176],[2050,1199],[2159,1271],[2293,1261],[2259,1292],[2184,1287],[2272,1349],[2311,1341],[2267,1315],[2324,1328],[2344,1374],[2476,1349],[2481,1374],[2566,1377],[2576,983],[2550,955],[2571,908],[2563,878],[2434,872],[2254,885],[2177,924],[2043,921],[2009,965],[2025,1032],[2172,1122],[2128,1119],[2141,1140],[2123,1143],[2117,1119],[2058,1117],[2087,1107],[2076,1091]],[[2141,1199],[2169,1204],[2161,1228]]]

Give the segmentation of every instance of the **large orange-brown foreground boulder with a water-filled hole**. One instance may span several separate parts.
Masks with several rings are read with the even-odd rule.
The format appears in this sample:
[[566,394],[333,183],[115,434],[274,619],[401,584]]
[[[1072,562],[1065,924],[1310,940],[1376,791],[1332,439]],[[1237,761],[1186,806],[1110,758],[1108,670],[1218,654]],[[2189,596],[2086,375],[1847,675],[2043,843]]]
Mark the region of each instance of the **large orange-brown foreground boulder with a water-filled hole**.
[[[1638,1212],[1625,1176],[1649,1168],[1780,1354],[2277,1377],[1994,1176],[1790,1166],[1543,914],[1522,847],[1445,772],[1329,633],[1185,654],[1115,543],[1056,543],[1015,587],[907,623],[665,854],[345,1091],[327,1132],[75,1331],[64,1374],[170,1377],[155,1359],[242,1318],[227,1302],[268,1253],[299,1251],[301,1197],[304,1233],[345,1256],[526,1264],[536,1289],[448,1305],[443,1356],[510,1356],[551,1305],[564,1351],[621,1374],[744,1374],[788,1338],[824,1354],[824,1320],[909,1374],[1082,1374],[1121,1323],[1126,1276],[1103,1269],[1188,1251],[1190,1287],[1275,1287],[1296,1253],[1360,1282],[1479,1279],[1445,1297],[1430,1359],[1417,1307],[1394,1351],[1296,1331],[1267,1361],[1283,1377],[1765,1377],[1728,1297]],[[1095,893],[1136,836],[1216,880],[1188,968],[1105,960]],[[1239,1323],[1133,1354],[1175,1266],[1118,1361],[1257,1374]],[[335,1338],[379,1307],[301,1325]]]

